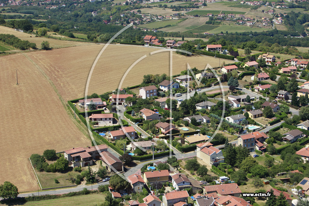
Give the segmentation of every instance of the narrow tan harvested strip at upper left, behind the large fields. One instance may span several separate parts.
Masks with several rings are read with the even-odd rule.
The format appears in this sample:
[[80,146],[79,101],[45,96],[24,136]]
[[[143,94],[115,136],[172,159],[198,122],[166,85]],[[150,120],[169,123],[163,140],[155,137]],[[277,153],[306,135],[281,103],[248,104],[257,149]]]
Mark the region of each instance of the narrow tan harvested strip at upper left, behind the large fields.
[[88,43],[88,42],[65,41],[65,40],[57,40],[57,39],[51,39],[51,38],[45,38],[45,37],[35,37],[35,35],[15,31],[12,28],[3,27],[3,26],[0,26],[0,34],[12,34],[21,40],[28,40],[32,43],[36,43],[37,48],[41,48],[41,44],[43,41],[48,41],[50,47],[52,48],[64,48],[64,47],[93,44],[93,43]]

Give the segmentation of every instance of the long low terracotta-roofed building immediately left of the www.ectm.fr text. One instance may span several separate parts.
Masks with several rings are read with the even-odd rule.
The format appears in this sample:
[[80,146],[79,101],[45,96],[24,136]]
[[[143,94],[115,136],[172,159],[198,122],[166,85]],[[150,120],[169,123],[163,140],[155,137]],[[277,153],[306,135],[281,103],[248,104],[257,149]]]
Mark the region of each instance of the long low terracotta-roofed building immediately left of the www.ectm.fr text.
[[241,194],[238,184],[236,183],[204,186],[203,190],[205,194],[215,192],[218,195],[231,195],[235,197],[239,197],[239,195]]

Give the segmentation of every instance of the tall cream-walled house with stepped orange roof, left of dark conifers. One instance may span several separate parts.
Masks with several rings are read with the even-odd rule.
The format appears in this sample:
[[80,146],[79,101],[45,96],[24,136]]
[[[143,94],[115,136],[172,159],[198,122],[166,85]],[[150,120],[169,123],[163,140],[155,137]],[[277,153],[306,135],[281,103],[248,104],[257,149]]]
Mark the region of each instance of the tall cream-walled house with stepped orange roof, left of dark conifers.
[[213,164],[218,165],[220,162],[224,162],[222,151],[210,144],[198,144],[196,153],[197,157],[209,166],[212,166]]

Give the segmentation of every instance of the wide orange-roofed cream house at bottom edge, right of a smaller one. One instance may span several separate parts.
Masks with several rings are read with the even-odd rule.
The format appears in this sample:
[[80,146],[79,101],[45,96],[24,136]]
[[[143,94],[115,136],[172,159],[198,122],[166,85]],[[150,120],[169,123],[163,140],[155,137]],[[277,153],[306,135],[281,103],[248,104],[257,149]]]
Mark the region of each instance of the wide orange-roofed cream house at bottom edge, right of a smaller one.
[[188,191],[176,191],[173,190],[171,192],[165,193],[162,197],[163,206],[172,206],[179,202],[184,202],[186,204],[188,202]]

